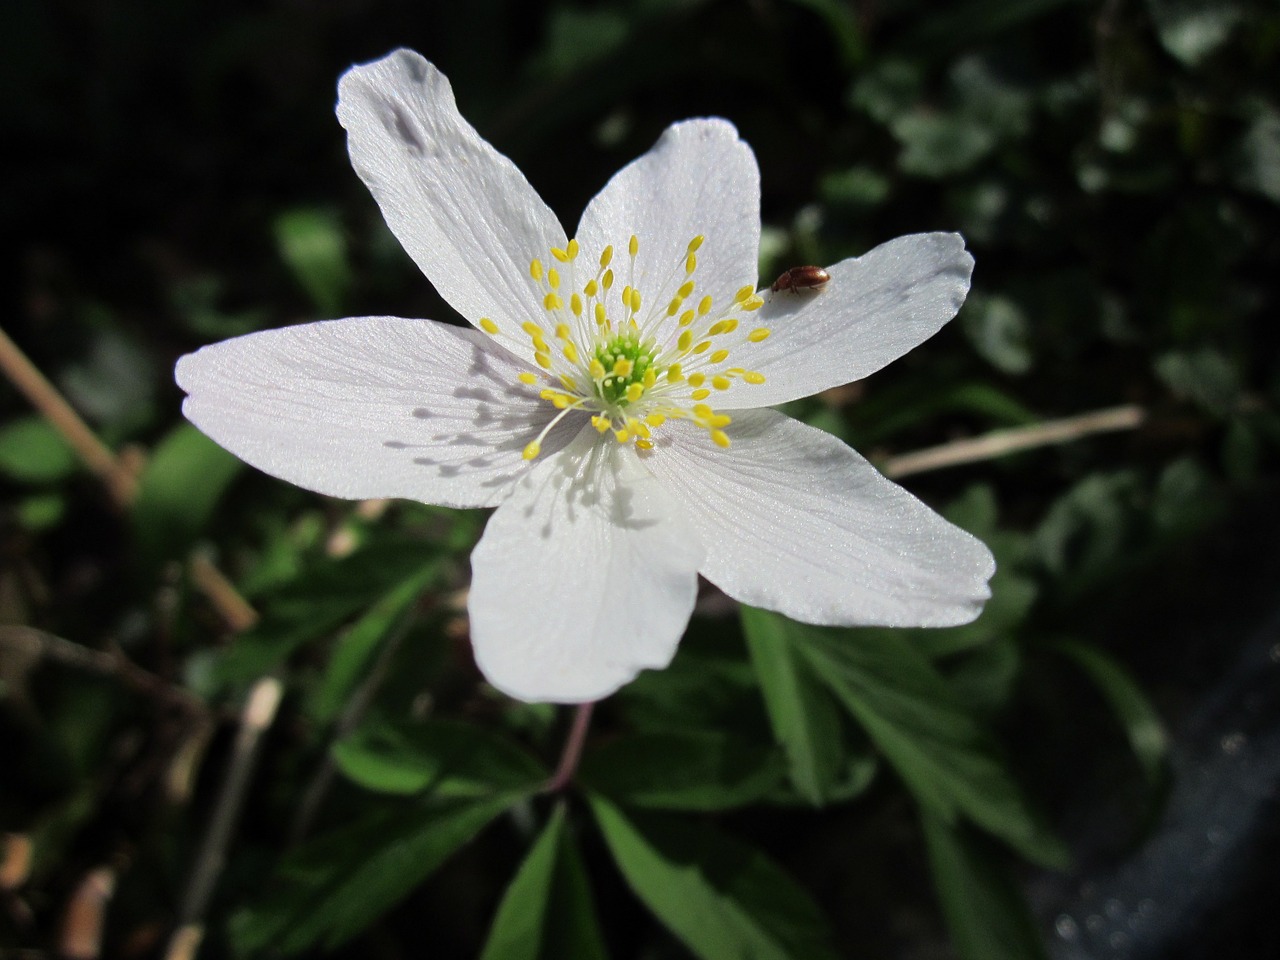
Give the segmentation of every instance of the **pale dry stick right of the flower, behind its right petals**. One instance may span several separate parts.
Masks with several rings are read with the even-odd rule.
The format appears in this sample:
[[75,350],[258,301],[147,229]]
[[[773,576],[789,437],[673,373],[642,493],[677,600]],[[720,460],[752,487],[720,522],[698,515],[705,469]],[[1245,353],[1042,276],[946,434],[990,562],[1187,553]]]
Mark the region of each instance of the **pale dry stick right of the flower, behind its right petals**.
[[1018,451],[1048,447],[1055,443],[1069,443],[1092,434],[1133,430],[1142,425],[1147,412],[1133,403],[1123,407],[1096,410],[1062,420],[1046,420],[1030,426],[1016,426],[1007,430],[993,430],[982,436],[943,443],[940,447],[927,447],[923,451],[890,457],[881,463],[881,472],[897,480],[911,474],[929,470],[955,467],[961,463],[978,463],[986,460],[1004,457]]

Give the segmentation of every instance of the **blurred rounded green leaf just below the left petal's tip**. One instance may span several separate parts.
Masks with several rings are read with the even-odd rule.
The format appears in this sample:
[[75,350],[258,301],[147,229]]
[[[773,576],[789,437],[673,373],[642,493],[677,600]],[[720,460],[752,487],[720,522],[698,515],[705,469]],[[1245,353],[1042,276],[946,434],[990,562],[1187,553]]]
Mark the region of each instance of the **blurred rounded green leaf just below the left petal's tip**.
[[138,479],[133,529],[151,562],[182,554],[209,525],[244,462],[183,424],[151,453]]

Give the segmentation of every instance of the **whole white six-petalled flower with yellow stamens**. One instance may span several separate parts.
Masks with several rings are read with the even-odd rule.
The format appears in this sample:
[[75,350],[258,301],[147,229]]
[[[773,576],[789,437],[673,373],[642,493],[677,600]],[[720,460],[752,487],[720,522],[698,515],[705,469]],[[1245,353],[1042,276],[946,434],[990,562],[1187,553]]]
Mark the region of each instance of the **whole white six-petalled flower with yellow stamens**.
[[349,70],[338,118],[392,232],[476,329],[376,316],[238,337],[178,362],[183,412],[319,493],[497,507],[468,602],[494,686],[577,703],[664,667],[699,572],[810,623],[978,614],[982,543],[764,408],[932,337],[969,287],[959,236],[756,293],[759,173],[724,120],[668,128],[570,239],[417,54]]

